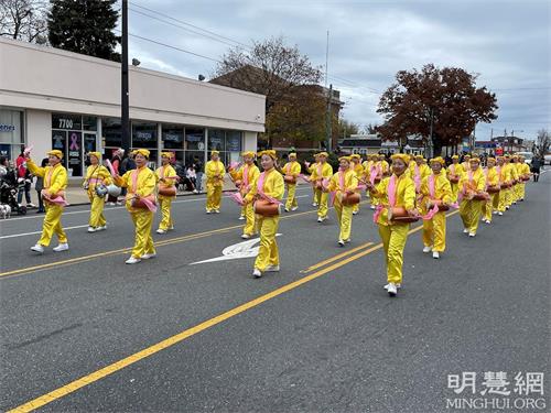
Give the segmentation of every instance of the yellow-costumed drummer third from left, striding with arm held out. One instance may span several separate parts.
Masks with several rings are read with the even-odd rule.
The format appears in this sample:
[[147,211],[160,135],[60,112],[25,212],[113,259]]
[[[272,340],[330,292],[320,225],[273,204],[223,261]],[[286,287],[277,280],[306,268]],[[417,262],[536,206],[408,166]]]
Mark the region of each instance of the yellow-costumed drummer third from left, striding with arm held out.
[[147,166],[149,151],[137,149],[134,154],[136,170],[128,171],[122,176],[114,176],[117,186],[128,188],[126,207],[136,228],[134,246],[127,264],[136,264],[156,256],[151,237],[153,215],[156,211],[156,176]]

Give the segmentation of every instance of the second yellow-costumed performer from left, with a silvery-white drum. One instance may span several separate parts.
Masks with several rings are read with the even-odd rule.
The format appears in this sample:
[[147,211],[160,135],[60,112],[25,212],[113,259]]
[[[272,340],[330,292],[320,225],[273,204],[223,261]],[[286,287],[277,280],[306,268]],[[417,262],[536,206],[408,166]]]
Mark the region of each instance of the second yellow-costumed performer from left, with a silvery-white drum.
[[[86,177],[84,178],[84,188],[90,199],[90,218],[88,220],[88,232],[96,232],[107,229],[107,222],[104,216],[105,195],[107,185],[112,184],[111,174],[101,165],[101,153],[88,153],[90,165],[86,169]],[[99,191],[96,191],[98,188]],[[105,192],[101,193],[101,189]]]

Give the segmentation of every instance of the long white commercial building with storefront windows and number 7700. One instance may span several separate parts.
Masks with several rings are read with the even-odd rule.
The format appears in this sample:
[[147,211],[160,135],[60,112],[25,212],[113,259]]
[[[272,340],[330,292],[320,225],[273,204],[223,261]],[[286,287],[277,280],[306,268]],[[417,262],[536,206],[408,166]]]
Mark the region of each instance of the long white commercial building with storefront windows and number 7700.
[[[160,72],[130,67],[132,148],[159,162],[163,150],[187,164],[218,150],[225,163],[257,149],[266,97]],[[110,157],[121,145],[120,64],[0,37],[0,152],[11,159],[33,146],[40,159],[65,153],[82,176],[86,153]]]

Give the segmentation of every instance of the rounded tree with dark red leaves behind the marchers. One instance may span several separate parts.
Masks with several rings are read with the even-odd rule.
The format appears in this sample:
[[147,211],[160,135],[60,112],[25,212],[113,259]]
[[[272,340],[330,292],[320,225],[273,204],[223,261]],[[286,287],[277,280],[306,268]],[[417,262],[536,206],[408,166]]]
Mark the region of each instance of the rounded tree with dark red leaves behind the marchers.
[[477,122],[497,119],[496,95],[485,86],[477,88],[476,78],[462,68],[440,69],[433,64],[421,72],[398,72],[397,83],[379,101],[377,112],[385,117],[385,123],[378,132],[401,148],[408,135],[421,135],[432,143],[433,155],[440,155],[442,146],[457,145],[469,137]]

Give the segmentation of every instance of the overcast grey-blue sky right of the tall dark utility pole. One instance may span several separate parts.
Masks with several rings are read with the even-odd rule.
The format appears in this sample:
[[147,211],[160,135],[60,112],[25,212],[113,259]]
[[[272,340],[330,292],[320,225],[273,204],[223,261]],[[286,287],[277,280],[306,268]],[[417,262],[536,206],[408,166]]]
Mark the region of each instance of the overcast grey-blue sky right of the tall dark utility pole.
[[434,63],[477,73],[477,86],[497,94],[499,118],[478,124],[477,140],[489,140],[491,128],[527,139],[551,129],[549,0],[129,0],[129,8],[130,33],[210,58],[130,37],[129,57],[142,67],[208,78],[230,45],[279,35],[325,66],[328,30],[328,81],[350,121],[380,123],[379,95],[396,73]]

